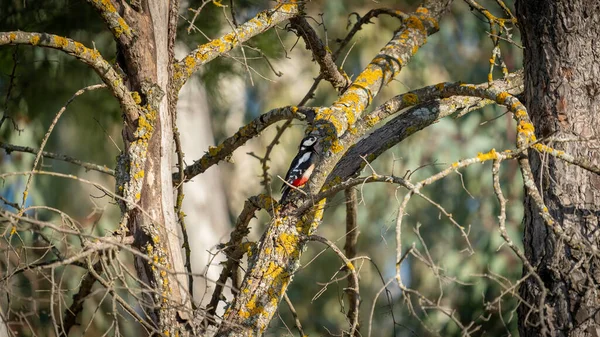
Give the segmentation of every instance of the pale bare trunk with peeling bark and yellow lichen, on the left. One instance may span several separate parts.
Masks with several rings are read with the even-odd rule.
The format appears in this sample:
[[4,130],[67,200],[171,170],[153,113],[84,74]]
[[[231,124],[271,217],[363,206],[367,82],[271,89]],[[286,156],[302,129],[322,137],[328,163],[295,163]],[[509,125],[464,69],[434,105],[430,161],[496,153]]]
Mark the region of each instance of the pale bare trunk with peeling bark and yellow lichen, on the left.
[[118,41],[120,65],[130,90],[139,95],[138,118],[125,116],[126,151],[117,168],[123,198],[135,202],[122,204],[122,225],[133,234],[134,246],[150,258],[134,256],[142,287],[149,287],[144,289],[144,311],[154,327],[167,335],[183,332],[179,323],[191,318],[172,181],[173,117],[179,91],[171,81],[176,4],[123,4],[121,12],[135,38]]

